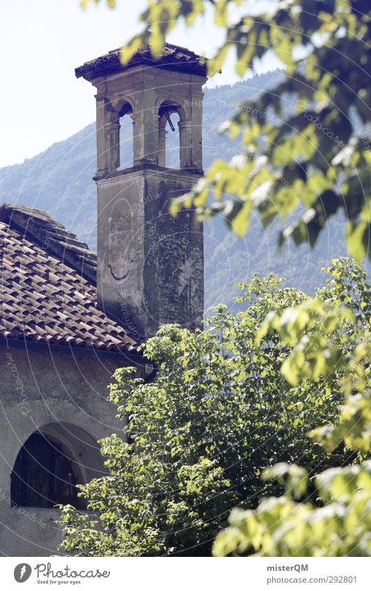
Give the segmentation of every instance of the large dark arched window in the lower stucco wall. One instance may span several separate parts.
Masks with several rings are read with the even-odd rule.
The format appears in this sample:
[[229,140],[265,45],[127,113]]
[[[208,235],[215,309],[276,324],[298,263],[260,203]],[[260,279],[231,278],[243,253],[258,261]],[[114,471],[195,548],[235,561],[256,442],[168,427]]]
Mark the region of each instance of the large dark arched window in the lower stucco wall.
[[77,484],[103,473],[93,437],[76,425],[50,423],[33,432],[20,448],[11,474],[11,500],[23,507],[52,508],[62,503],[86,509]]

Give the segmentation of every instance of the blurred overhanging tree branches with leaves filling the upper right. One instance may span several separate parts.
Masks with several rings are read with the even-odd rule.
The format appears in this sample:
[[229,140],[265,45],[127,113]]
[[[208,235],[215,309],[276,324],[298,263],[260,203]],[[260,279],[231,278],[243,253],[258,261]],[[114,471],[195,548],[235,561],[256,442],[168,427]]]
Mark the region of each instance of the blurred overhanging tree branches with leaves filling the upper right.
[[370,3],[277,0],[266,12],[258,9],[259,3],[241,0],[151,0],[140,17],[143,30],[123,47],[125,63],[143,45],[160,56],[180,21],[192,26],[206,14],[225,31],[208,61],[210,75],[229,52],[240,77],[269,53],[286,68],[281,84],[256,102],[239,104],[223,127],[241,135],[244,154],[229,163],[216,160],[173,211],[194,203],[202,219],[222,215],[238,235],[248,229],[253,210],[265,226],[288,216],[280,244],[289,237],[314,244],[329,217],[341,211],[350,252],[370,255]]

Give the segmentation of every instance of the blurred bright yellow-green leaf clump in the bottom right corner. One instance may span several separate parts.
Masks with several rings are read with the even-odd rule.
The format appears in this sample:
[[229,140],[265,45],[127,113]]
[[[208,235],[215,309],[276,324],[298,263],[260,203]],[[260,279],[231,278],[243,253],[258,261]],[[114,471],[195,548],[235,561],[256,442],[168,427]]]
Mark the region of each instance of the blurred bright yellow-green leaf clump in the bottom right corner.
[[329,468],[315,477],[315,487],[323,506],[295,502],[298,489],[291,487],[256,510],[233,509],[214,555],[370,556],[371,461]]

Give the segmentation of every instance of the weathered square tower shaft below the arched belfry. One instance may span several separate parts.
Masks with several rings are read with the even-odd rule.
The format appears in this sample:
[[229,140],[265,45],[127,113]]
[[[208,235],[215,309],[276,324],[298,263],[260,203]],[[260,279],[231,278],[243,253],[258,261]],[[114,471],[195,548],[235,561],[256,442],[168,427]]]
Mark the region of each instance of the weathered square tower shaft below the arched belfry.
[[134,338],[153,336],[161,324],[202,324],[203,228],[193,210],[168,212],[198,178],[129,168],[97,181],[97,297]]

